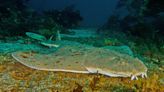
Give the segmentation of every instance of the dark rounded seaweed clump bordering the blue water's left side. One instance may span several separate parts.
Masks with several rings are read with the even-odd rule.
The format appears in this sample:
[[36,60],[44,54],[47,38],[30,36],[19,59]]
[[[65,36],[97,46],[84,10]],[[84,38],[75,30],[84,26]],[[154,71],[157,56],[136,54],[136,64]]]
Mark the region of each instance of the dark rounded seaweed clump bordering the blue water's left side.
[[73,5],[67,6],[63,10],[44,11],[44,15],[66,28],[77,27],[83,20],[80,11],[75,10]]

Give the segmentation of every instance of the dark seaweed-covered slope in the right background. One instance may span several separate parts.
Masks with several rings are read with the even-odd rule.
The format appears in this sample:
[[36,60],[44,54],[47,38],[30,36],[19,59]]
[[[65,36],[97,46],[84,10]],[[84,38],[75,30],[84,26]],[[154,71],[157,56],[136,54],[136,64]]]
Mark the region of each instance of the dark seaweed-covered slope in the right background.
[[160,49],[164,45],[163,6],[164,1],[161,0],[120,0],[116,11],[124,7],[127,14],[114,13],[98,32],[110,34],[112,30],[121,31],[129,40],[154,44]]

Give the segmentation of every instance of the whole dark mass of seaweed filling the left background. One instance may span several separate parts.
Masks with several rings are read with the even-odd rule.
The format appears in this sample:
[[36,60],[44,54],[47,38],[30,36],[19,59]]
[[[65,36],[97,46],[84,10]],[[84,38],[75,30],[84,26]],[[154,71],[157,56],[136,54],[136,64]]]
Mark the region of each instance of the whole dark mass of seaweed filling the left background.
[[[72,6],[64,10],[45,11],[43,14],[26,6],[29,0],[1,0],[0,33],[1,39],[6,36],[22,36],[25,32],[44,32],[46,36],[55,34],[57,30],[69,33],[65,28],[77,27],[82,21],[80,12]],[[4,37],[5,36],[5,37]]]

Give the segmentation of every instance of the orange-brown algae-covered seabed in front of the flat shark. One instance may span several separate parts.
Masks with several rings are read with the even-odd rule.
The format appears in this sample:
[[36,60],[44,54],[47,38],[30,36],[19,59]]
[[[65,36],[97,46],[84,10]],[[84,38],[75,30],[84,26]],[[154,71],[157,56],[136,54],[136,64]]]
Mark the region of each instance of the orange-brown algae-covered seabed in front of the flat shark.
[[[159,56],[164,57],[163,54]],[[144,57],[149,58],[149,55]],[[164,92],[163,63],[159,65],[147,60],[144,64],[148,67],[148,77],[131,80],[99,74],[35,70],[14,60],[10,53],[2,53],[0,92]]]

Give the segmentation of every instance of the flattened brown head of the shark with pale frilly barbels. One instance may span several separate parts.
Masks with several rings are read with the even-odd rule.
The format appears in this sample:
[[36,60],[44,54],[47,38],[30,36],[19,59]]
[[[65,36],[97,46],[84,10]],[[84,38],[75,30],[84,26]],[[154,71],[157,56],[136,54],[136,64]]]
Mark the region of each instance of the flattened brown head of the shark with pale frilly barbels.
[[84,66],[90,73],[111,77],[132,77],[132,80],[140,75],[147,77],[147,68],[138,58],[100,48],[90,49],[86,56]]

